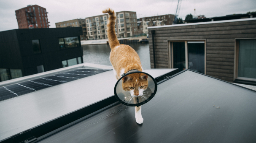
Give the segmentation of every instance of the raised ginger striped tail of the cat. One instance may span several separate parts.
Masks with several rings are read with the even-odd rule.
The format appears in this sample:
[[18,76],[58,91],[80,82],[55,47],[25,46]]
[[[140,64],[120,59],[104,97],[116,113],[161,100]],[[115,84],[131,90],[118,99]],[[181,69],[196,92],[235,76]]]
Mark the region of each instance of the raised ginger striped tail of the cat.
[[116,13],[112,8],[106,8],[102,10],[102,13],[108,13],[108,24],[107,24],[107,34],[108,34],[108,43],[110,48],[116,47],[119,45],[119,41],[116,37],[115,23],[116,23]]

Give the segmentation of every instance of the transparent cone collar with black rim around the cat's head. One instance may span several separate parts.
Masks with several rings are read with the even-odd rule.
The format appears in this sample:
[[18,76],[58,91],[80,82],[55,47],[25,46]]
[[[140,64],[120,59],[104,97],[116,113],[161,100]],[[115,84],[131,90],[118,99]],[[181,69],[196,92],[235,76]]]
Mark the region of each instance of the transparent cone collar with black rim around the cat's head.
[[[131,86],[133,89],[131,89]],[[148,73],[131,70],[116,83],[116,99],[127,106],[140,106],[150,101],[156,94],[157,84]]]

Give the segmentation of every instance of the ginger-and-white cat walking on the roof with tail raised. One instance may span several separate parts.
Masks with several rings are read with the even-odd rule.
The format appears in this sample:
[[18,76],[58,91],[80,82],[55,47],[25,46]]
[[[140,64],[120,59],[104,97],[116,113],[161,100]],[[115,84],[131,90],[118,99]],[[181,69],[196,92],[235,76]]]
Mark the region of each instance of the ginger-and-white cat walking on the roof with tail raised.
[[[121,78],[123,73],[127,73],[129,70],[136,69],[138,71],[143,71],[140,57],[129,45],[120,44],[115,31],[116,23],[116,13],[113,9],[106,8],[102,10],[102,13],[108,13],[108,24],[107,24],[107,34],[108,42],[111,48],[110,52],[110,62],[114,68],[114,74],[116,79]],[[143,73],[134,73],[127,75],[123,78],[123,89],[129,91],[131,96],[142,96],[143,91],[148,87],[147,81],[148,75]],[[141,106],[135,107],[135,119],[138,124],[143,123],[143,118],[141,115]]]

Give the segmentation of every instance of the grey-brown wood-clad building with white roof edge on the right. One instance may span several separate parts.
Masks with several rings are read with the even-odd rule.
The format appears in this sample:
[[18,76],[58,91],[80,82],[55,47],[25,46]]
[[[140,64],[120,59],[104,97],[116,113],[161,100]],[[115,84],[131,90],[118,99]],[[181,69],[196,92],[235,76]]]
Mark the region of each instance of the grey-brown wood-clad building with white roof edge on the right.
[[155,62],[156,68],[191,69],[256,84],[256,18],[153,26],[148,31],[151,68]]

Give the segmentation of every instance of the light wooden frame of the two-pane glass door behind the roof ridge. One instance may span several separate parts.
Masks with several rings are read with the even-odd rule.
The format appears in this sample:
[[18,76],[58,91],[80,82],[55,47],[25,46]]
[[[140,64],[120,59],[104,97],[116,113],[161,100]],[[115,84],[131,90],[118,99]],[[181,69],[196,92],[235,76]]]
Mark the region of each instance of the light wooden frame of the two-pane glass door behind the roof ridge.
[[173,42],[185,42],[185,63],[186,63],[186,69],[189,68],[188,42],[205,42],[205,75],[206,75],[206,39],[167,40],[167,45],[168,45],[168,67],[169,68],[173,68]]

